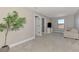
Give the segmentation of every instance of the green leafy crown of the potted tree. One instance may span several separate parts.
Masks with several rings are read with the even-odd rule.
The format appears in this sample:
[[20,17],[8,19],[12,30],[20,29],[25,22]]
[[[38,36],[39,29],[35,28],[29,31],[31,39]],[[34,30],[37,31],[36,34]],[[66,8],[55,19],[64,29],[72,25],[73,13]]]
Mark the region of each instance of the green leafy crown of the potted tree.
[[3,19],[5,23],[0,24],[0,31],[3,31],[4,29],[7,28],[12,31],[19,30],[26,23],[25,17],[19,16],[18,12],[16,11],[13,11],[12,13],[8,13],[8,15]]

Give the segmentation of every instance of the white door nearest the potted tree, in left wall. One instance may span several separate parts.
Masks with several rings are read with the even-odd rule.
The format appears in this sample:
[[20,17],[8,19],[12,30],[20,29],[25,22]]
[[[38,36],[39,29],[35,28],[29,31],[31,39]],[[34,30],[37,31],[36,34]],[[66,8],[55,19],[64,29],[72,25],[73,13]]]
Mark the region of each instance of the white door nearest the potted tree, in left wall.
[[41,36],[42,30],[41,30],[41,18],[39,16],[35,16],[35,35]]

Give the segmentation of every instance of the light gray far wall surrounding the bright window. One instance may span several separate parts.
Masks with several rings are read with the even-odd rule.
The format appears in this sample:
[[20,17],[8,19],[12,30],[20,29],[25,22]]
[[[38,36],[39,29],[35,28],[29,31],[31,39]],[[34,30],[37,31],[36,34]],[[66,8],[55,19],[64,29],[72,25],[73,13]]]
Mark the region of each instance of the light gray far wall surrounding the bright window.
[[64,24],[65,29],[68,28],[68,27],[74,28],[74,15],[68,15],[68,16],[64,16],[64,17],[57,17],[57,18],[52,19],[53,20],[53,22],[52,22],[53,23],[53,29],[54,29],[55,32],[57,32],[57,31],[58,32],[63,32],[64,31],[64,29],[61,30],[61,29],[57,28],[58,19],[64,19],[65,20],[65,24]]

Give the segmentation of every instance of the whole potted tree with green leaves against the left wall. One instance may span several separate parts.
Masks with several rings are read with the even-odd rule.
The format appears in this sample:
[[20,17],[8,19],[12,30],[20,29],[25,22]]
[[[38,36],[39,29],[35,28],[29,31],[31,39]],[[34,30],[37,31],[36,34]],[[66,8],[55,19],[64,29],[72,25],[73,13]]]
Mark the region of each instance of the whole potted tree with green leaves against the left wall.
[[0,23],[0,32],[5,32],[5,42],[4,46],[2,46],[2,51],[8,51],[9,46],[6,44],[7,36],[9,31],[19,30],[25,24],[25,17],[20,17],[18,12],[13,11],[12,13],[8,13],[7,17],[3,18],[4,22]]

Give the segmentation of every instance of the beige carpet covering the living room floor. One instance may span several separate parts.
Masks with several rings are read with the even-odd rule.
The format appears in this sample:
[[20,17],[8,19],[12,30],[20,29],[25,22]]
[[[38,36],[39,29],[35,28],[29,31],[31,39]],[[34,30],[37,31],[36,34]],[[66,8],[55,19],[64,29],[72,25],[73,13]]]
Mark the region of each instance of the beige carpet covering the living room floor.
[[23,43],[10,49],[10,52],[76,52],[79,51],[79,40],[64,38],[63,34],[51,33],[36,37],[35,40]]

